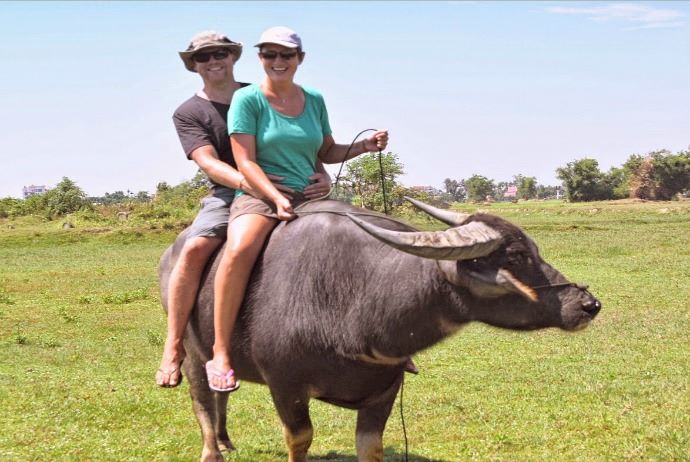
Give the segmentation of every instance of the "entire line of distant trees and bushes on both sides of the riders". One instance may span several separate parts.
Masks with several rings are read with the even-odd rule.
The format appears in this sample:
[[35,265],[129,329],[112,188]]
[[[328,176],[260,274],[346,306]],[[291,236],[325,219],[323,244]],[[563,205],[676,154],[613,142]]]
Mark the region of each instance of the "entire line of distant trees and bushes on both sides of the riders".
[[[690,193],[690,149],[678,153],[667,150],[646,155],[633,154],[620,167],[602,172],[596,159],[583,158],[556,170],[560,186],[542,185],[533,176],[518,174],[511,181],[495,182],[474,174],[466,179],[443,180],[443,189],[431,186],[407,187],[398,179],[404,165],[395,153],[369,153],[345,165],[345,172],[334,178],[331,197],[370,210],[409,207],[403,200],[411,196],[435,205],[452,202],[552,199],[564,197],[571,202],[623,198],[671,200]],[[200,170],[189,181],[171,186],[156,186],[152,197],[146,191],[115,191],[102,197],[88,197],[77,184],[63,178],[54,188],[27,199],[0,199],[0,218],[42,215],[48,219],[80,212],[94,214],[98,207],[118,206],[133,209],[147,205],[153,218],[170,216],[174,210],[192,210],[208,192],[209,182]],[[383,187],[382,187],[383,186]],[[563,196],[561,196],[563,195]],[[384,197],[385,196],[385,197]],[[384,207],[385,199],[385,207]]]

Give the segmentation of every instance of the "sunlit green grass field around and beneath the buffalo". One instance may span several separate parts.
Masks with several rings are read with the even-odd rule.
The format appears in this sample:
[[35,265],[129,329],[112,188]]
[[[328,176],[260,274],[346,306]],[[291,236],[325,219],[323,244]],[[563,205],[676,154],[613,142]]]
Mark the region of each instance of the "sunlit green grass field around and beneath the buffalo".
[[[576,334],[474,324],[419,354],[409,460],[690,460],[690,202],[480,208],[523,226],[604,307]],[[156,268],[174,231],[61,224],[0,220],[0,460],[198,460],[187,383],[153,381]],[[314,402],[312,417],[312,460],[355,461],[355,413]],[[227,460],[286,460],[265,387],[232,395],[229,430]],[[384,445],[405,460],[397,403]]]

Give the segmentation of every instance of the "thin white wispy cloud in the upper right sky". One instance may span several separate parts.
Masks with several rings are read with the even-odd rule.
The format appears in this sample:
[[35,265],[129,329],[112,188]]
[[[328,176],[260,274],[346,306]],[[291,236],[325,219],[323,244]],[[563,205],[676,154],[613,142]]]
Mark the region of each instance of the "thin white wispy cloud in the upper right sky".
[[594,7],[547,8],[549,13],[581,15],[593,21],[624,21],[630,29],[654,29],[682,26],[685,13],[677,10],[652,8],[635,3],[614,3]]

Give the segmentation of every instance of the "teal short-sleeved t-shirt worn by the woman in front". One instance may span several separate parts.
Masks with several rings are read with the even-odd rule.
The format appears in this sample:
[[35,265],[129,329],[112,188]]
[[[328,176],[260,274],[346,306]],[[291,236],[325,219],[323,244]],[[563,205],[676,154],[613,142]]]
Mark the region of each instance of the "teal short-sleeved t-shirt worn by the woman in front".
[[283,184],[295,191],[309,184],[323,138],[331,134],[323,96],[312,88],[302,90],[304,111],[291,117],[273,109],[258,85],[241,88],[232,97],[228,127],[231,135],[254,135],[259,166],[285,177]]

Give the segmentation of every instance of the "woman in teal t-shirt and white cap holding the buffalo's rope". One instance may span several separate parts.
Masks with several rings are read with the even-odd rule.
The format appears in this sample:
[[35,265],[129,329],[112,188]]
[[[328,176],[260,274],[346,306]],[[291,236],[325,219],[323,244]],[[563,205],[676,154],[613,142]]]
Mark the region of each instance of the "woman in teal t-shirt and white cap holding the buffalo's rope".
[[[266,199],[237,193],[230,209],[228,241],[215,285],[215,343],[206,363],[212,390],[239,388],[230,364],[230,336],[254,262],[271,230],[280,220],[295,218],[294,207],[304,201],[299,192],[309,184],[317,160],[338,163],[348,145],[336,144],[319,92],[294,82],[304,61],[302,40],[287,27],[266,30],[259,43],[259,60],[266,77],[259,85],[235,92],[230,114],[230,142],[238,170]],[[347,158],[385,149],[388,132],[380,130],[355,144]],[[297,191],[291,202],[267,174],[284,177]]]

